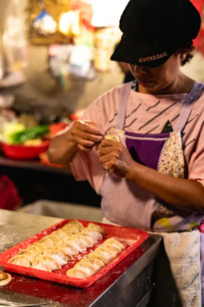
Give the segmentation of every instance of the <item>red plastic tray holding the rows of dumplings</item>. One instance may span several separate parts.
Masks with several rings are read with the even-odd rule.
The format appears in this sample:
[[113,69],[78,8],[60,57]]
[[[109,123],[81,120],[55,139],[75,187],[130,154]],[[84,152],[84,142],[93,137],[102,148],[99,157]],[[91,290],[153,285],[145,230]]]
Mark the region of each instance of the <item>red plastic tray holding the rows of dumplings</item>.
[[[104,276],[107,272],[109,272],[115,265],[118,264],[122,259],[124,259],[127,255],[129,255],[134,249],[136,249],[139,245],[142,244],[147,238],[148,233],[142,230],[138,230],[135,228],[127,228],[127,227],[119,227],[119,226],[112,226],[107,224],[101,224],[101,223],[94,223],[96,225],[99,225],[102,229],[104,229],[107,233],[107,235],[104,237],[103,240],[98,242],[97,245],[95,245],[92,248],[87,249],[87,251],[80,253],[79,255],[74,256],[74,260],[69,261],[67,265],[63,266],[61,270],[57,270],[55,272],[45,272],[41,270],[36,270],[32,268],[26,268],[22,266],[12,265],[8,264],[8,260],[15,256],[21,249],[25,249],[29,246],[31,246],[33,243],[39,241],[43,236],[50,234],[54,230],[57,230],[61,227],[63,227],[65,224],[70,222],[72,220],[64,220],[58,224],[55,224],[38,234],[32,236],[31,238],[24,240],[23,242],[19,243],[18,245],[10,248],[9,250],[3,252],[0,254],[0,265],[4,266],[5,269],[9,272],[23,274],[23,275],[29,275],[32,277],[37,277],[40,279],[48,280],[48,281],[54,281],[59,283],[68,284],[69,286],[78,287],[78,288],[87,288],[89,287],[94,281],[98,280],[102,276]],[[87,221],[80,221],[85,227],[90,223]],[[79,278],[73,278],[68,277],[66,275],[67,270],[73,268],[73,266],[84,256],[91,253],[101,245],[104,240],[107,238],[114,237],[119,242],[121,242],[125,250],[122,252],[117,258],[115,258],[113,261],[108,264],[104,269],[100,270],[96,275],[84,279]]]

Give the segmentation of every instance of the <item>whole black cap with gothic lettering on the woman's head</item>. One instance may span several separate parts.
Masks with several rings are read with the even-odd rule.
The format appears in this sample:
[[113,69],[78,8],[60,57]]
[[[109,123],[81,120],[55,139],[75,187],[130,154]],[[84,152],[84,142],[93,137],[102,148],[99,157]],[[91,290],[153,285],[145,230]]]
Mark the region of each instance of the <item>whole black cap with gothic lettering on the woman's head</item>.
[[111,60],[154,68],[192,46],[201,18],[190,0],[131,0],[120,18],[123,35]]

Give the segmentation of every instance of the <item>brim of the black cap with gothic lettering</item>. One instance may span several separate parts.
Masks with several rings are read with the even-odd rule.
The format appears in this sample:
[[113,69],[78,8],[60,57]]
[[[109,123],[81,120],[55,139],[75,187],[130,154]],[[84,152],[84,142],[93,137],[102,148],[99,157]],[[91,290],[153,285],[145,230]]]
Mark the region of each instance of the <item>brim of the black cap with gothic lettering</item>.
[[175,52],[175,47],[147,46],[141,43],[120,41],[113,55],[112,61],[155,68],[164,64]]

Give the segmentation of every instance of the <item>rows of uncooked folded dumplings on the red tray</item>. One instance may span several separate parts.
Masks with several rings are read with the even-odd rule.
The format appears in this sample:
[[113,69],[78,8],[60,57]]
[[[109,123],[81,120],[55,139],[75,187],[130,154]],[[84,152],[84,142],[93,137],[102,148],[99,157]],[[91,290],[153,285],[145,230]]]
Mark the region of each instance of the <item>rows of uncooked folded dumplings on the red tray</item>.
[[[68,261],[73,260],[72,256],[93,247],[103,239],[103,235],[105,231],[98,225],[90,223],[84,227],[79,221],[74,220],[42,237],[27,249],[21,250],[8,262],[47,272],[60,270]],[[123,246],[117,240],[109,239],[107,245],[105,243],[78,262],[70,274],[92,276],[123,250]]]

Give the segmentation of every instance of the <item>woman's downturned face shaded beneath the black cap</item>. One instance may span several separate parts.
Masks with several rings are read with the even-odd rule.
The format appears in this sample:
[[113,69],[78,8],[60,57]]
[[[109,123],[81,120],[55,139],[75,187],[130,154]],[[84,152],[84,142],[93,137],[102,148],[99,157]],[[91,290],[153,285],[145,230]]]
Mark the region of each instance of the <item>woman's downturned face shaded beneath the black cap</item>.
[[172,87],[177,83],[180,75],[181,61],[186,54],[172,55],[163,65],[156,68],[147,68],[129,64],[133,76],[147,92],[154,93]]

